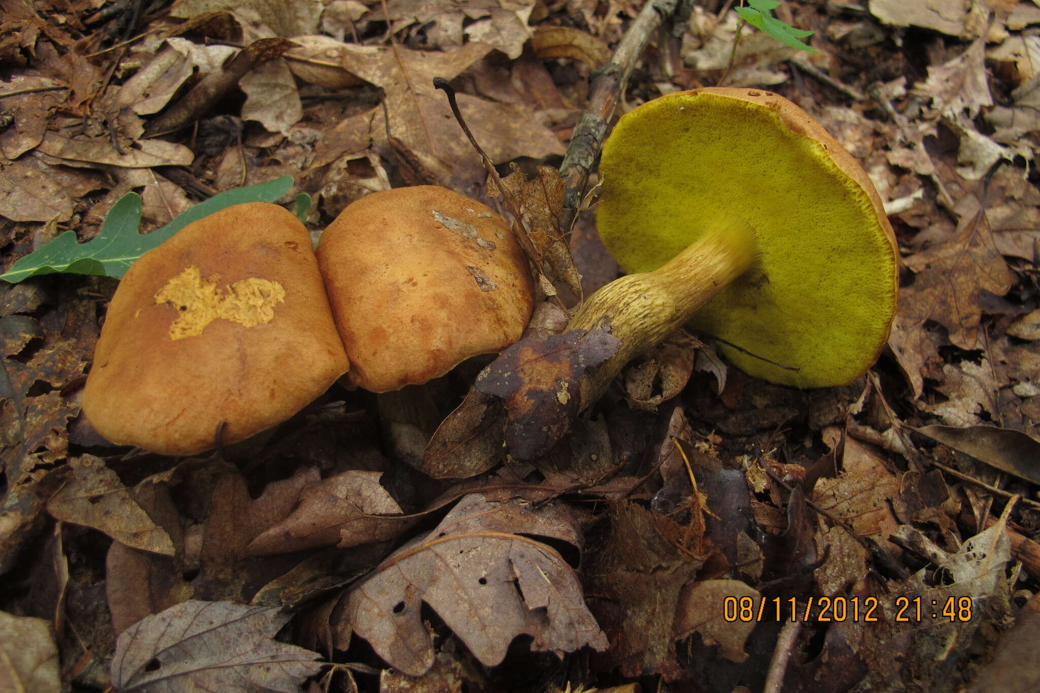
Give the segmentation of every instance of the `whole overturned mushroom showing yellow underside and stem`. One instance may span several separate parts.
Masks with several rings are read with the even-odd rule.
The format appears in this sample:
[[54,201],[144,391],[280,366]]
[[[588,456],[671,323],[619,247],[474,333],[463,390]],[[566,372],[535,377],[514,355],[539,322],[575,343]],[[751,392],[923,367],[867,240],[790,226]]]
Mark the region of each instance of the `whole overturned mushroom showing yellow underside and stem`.
[[569,324],[608,322],[622,342],[587,377],[582,407],[683,324],[781,384],[843,384],[877,361],[895,314],[895,237],[866,174],[801,108],[748,88],[660,97],[621,117],[599,170],[600,238],[636,273]]

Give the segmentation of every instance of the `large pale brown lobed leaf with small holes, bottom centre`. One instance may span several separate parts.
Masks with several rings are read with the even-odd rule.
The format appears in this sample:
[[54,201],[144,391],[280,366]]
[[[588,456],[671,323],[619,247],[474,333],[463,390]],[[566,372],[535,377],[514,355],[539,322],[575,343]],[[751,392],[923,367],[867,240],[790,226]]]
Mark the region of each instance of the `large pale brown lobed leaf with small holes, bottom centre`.
[[[347,596],[346,618],[391,666],[418,676],[434,664],[422,624],[427,604],[486,666],[530,635],[530,648],[557,655],[606,639],[586,608],[574,570],[540,541],[574,541],[576,529],[543,506],[462,499],[430,534],[392,554]],[[553,516],[554,515],[554,516]]]

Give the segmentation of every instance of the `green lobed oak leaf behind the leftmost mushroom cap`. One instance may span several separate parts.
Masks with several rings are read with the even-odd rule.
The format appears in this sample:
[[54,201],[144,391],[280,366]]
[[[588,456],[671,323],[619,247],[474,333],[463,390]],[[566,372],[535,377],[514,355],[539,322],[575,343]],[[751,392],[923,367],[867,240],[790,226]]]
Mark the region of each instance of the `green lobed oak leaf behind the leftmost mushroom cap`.
[[[213,195],[184,211],[162,229],[151,234],[137,233],[140,226],[140,196],[130,192],[112,206],[101,232],[86,243],[76,240],[76,232],[67,231],[53,241],[19,259],[0,279],[17,284],[40,274],[95,274],[122,278],[137,258],[159,245],[178,231],[213,212],[242,203],[272,203],[292,187],[292,177],[246,188],[236,188]],[[298,204],[298,201],[297,201]]]

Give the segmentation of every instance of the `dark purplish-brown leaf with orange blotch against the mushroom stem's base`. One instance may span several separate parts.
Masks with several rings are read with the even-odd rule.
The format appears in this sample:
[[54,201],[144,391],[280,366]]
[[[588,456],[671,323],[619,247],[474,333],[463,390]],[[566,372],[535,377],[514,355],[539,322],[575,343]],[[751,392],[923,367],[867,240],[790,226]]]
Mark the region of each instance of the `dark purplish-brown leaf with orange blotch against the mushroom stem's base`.
[[505,445],[517,459],[547,453],[578,414],[586,370],[621,345],[606,329],[525,337],[476,376],[474,387],[505,401]]

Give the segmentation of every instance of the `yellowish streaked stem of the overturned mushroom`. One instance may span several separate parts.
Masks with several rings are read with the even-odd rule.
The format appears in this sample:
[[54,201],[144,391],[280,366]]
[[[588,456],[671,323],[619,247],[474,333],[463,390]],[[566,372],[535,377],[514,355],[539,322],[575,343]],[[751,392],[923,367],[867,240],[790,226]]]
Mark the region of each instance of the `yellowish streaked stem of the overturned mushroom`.
[[625,364],[685,324],[726,285],[748,271],[756,252],[755,232],[747,221],[719,218],[665,265],[622,276],[590,296],[567,328],[593,329],[606,320],[621,347],[586,375],[581,408],[606,392]]

